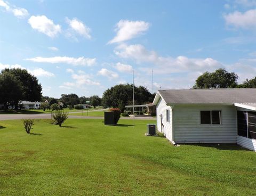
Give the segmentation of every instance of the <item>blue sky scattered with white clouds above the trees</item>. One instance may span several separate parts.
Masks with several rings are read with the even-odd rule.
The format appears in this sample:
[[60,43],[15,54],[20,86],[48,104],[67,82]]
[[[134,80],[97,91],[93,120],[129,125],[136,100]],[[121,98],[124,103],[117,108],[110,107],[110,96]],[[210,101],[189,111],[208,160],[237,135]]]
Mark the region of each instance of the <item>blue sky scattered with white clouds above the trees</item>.
[[[43,95],[116,84],[193,87],[224,68],[256,76],[256,0],[0,0],[0,70],[27,69]],[[152,88],[153,70],[153,88]]]

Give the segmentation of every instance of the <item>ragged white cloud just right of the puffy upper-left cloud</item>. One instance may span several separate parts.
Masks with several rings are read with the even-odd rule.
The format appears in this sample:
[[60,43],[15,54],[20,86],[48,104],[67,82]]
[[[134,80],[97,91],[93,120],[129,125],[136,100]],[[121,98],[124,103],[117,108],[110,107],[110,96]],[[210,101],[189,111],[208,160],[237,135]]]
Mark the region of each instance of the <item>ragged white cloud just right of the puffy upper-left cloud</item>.
[[79,36],[83,36],[87,39],[91,39],[91,29],[87,27],[82,21],[77,18],[73,18],[72,20],[66,18],[66,22],[68,23],[70,29],[68,29],[66,36],[75,38],[74,34],[78,34]]

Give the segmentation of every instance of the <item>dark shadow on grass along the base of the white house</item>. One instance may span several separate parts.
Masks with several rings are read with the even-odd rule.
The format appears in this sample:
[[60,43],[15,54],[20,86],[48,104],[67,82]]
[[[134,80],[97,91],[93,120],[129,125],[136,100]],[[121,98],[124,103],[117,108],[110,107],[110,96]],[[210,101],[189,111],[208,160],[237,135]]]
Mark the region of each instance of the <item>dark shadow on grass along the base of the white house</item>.
[[193,146],[202,146],[202,147],[209,147],[215,148],[218,150],[243,150],[243,151],[251,151],[249,149],[243,148],[237,144],[188,144],[188,143],[179,143],[180,145],[193,145]]

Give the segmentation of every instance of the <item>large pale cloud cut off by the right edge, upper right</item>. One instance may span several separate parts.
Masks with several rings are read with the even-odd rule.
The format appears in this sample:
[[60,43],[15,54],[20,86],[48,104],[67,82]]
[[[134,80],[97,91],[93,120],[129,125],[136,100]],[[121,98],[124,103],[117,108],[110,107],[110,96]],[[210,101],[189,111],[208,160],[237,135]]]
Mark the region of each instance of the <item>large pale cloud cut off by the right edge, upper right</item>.
[[235,28],[250,29],[256,28],[256,9],[244,13],[235,11],[223,15],[227,25]]

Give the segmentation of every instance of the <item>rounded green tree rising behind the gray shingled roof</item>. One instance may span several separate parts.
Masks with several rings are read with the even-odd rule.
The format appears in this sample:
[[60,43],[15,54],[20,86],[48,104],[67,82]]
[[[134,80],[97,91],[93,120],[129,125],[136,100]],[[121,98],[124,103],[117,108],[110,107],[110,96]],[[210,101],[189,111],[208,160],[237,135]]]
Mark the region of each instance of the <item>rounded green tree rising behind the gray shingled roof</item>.
[[225,69],[217,69],[214,72],[204,72],[196,79],[194,88],[234,88],[237,85],[238,76],[234,72]]

